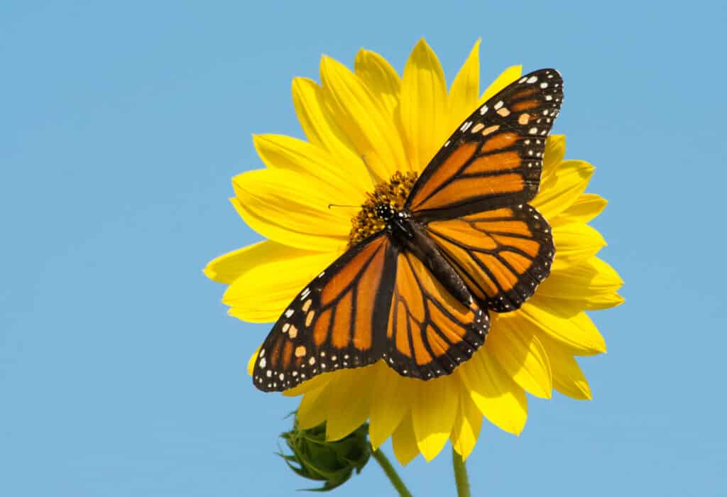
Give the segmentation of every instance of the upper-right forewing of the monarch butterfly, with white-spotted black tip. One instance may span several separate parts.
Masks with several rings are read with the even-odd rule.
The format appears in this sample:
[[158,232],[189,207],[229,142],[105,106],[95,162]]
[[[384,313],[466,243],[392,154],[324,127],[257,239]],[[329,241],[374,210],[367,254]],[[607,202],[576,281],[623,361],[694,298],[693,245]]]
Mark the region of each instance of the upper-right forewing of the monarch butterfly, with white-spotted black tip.
[[555,69],[526,74],[495,94],[444,143],[406,208],[427,222],[530,201],[562,101],[563,79]]

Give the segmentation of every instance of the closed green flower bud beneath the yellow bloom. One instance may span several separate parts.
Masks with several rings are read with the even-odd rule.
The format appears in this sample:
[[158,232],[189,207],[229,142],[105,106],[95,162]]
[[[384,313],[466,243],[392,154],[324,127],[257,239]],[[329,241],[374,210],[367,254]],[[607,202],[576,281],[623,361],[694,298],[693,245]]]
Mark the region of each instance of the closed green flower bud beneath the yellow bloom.
[[278,454],[297,474],[309,480],[324,482],[321,488],[305,490],[326,491],[342,485],[358,474],[371,457],[368,440],[369,425],[362,424],[355,432],[335,442],[326,442],[326,424],[311,429],[298,429],[297,420],[292,431],[281,434],[292,454]]

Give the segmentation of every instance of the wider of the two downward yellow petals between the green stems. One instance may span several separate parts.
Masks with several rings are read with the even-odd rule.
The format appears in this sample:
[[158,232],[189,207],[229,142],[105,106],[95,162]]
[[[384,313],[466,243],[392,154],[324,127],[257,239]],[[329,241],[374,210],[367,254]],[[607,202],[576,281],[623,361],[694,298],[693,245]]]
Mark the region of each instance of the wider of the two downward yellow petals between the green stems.
[[457,393],[461,388],[456,376],[417,381],[411,421],[419,452],[431,461],[444,447],[457,416]]

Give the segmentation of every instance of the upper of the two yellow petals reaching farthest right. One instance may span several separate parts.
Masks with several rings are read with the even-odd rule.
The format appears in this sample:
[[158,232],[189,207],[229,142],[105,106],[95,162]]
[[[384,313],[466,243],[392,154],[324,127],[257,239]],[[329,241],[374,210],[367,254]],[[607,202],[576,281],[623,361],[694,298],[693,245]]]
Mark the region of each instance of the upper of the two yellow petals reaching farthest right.
[[613,267],[593,257],[566,270],[551,272],[538,286],[537,295],[587,301],[593,296],[613,294],[623,284]]

